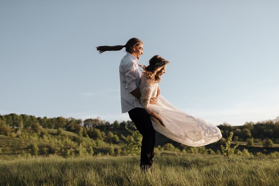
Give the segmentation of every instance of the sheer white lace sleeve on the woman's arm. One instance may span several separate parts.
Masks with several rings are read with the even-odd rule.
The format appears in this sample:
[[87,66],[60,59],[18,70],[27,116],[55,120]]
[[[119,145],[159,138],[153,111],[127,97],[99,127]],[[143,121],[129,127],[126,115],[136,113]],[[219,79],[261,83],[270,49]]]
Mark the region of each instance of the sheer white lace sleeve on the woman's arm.
[[148,108],[148,106],[149,106],[149,101],[151,99],[153,86],[152,86],[152,83],[150,81],[146,81],[146,79],[144,79],[144,81],[142,81],[140,83],[144,83],[144,88],[141,91],[140,103],[141,103],[142,107],[145,109],[145,111],[148,114],[150,114],[152,109]]

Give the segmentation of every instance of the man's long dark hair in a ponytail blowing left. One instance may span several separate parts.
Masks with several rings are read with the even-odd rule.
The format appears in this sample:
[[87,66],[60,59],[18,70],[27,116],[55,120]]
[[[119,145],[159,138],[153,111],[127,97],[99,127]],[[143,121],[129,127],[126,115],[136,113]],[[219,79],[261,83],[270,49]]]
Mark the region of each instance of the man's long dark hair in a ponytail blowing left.
[[131,53],[134,46],[139,47],[139,45],[141,45],[141,44],[142,44],[142,41],[140,41],[138,38],[131,38],[125,45],[99,46],[96,48],[100,54],[105,51],[120,51],[124,47],[126,48],[126,52]]

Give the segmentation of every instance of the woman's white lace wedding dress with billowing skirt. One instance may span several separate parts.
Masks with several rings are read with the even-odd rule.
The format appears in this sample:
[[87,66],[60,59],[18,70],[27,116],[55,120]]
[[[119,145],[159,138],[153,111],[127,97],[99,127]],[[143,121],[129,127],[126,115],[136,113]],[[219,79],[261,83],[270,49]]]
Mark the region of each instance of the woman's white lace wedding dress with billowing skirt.
[[151,98],[157,95],[158,83],[152,83],[150,79],[141,75],[139,91],[141,92],[141,104],[147,113],[157,113],[164,125],[151,117],[153,127],[162,135],[188,146],[199,147],[214,143],[221,139],[220,129],[212,123],[184,113],[170,104],[162,95],[158,96],[157,104],[149,104]]

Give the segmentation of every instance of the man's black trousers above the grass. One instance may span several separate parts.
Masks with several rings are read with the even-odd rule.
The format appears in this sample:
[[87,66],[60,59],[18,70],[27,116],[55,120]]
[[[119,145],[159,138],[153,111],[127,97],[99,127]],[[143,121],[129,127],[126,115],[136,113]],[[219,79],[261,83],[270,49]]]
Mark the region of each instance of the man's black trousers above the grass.
[[133,108],[128,113],[139,133],[142,135],[140,168],[149,168],[153,163],[155,146],[155,130],[150,115],[145,112],[144,108]]

